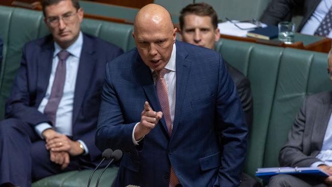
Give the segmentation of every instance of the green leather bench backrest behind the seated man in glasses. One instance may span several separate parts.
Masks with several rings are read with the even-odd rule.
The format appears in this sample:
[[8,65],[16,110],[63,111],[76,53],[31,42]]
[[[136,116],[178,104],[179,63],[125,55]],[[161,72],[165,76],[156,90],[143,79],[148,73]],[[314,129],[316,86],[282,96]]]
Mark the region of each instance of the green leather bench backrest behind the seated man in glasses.
[[[41,11],[0,6],[0,37],[4,40],[4,59],[0,74],[0,120],[4,118],[5,101],[20,65],[22,46],[48,34]],[[82,30],[109,41],[124,51],[135,46],[133,26],[114,22],[83,19]]]

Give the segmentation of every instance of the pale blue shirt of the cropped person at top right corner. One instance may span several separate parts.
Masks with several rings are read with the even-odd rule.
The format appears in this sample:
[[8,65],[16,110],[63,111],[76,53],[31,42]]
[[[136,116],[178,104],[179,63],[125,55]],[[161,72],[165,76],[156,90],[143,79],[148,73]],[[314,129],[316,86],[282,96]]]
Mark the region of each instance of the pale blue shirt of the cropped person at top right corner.
[[[322,0],[318,4],[316,10],[314,11],[310,19],[306,21],[305,25],[301,30],[301,33],[314,35],[315,31],[319,27],[320,23],[323,21],[324,17],[326,16],[331,6],[332,6],[332,0]],[[332,38],[332,32],[330,32],[326,37]]]

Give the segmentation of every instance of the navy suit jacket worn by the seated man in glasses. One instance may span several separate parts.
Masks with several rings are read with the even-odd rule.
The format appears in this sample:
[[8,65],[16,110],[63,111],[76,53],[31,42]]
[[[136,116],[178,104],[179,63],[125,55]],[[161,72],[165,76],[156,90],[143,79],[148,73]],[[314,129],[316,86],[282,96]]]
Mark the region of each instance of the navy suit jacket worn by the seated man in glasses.
[[[37,108],[49,84],[54,53],[51,35],[27,43],[21,66],[6,104],[6,118],[35,125],[51,121]],[[101,152],[94,145],[106,63],[123,51],[115,45],[83,34],[73,108],[73,139],[81,139],[89,149],[83,162],[97,162]],[[83,159],[83,158],[82,158]]]

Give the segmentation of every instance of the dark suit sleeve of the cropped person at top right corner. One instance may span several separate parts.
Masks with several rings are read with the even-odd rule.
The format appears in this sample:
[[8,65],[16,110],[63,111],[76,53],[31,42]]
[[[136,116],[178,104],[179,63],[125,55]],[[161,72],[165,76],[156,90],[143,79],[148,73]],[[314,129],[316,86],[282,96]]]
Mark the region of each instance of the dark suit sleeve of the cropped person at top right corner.
[[265,9],[260,21],[267,25],[278,25],[280,21],[290,21],[294,8],[303,4],[299,0],[272,0]]

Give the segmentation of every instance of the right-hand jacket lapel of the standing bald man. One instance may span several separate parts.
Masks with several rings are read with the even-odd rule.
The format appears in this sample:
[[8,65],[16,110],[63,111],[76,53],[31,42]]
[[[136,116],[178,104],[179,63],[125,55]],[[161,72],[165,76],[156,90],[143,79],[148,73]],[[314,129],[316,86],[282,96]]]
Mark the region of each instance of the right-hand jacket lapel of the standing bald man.
[[178,122],[182,116],[183,101],[192,65],[192,61],[186,59],[187,56],[187,51],[179,42],[176,42],[176,102],[171,140],[176,133]]

